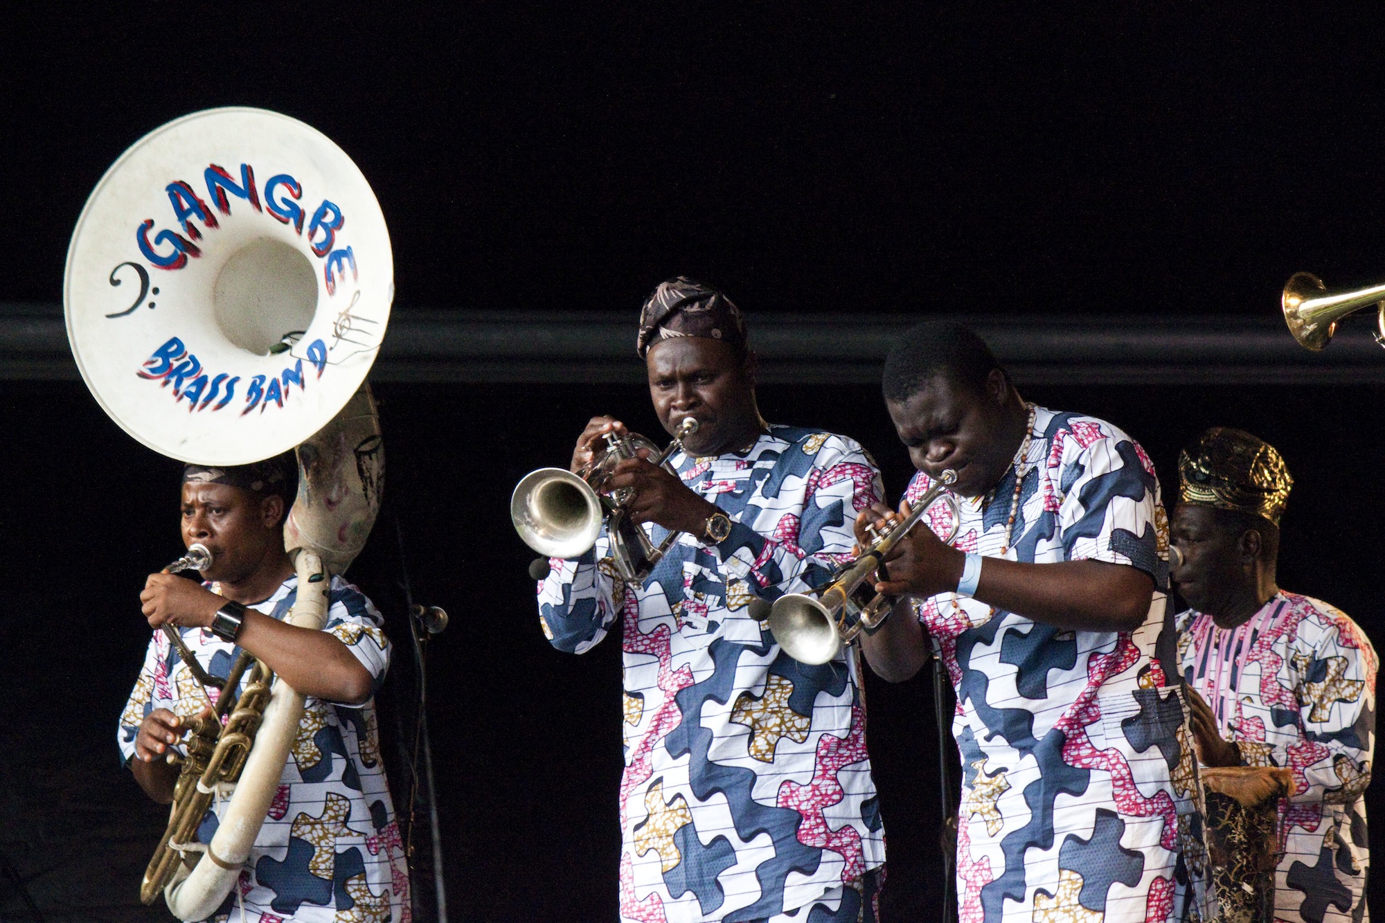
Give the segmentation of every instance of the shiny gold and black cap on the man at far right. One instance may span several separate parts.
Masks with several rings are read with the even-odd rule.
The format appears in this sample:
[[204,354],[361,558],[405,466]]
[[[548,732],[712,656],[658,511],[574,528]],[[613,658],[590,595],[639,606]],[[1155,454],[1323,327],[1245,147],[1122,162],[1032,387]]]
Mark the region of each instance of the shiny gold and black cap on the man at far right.
[[1273,445],[1242,430],[1212,427],[1179,453],[1179,499],[1251,513],[1280,524],[1294,478]]

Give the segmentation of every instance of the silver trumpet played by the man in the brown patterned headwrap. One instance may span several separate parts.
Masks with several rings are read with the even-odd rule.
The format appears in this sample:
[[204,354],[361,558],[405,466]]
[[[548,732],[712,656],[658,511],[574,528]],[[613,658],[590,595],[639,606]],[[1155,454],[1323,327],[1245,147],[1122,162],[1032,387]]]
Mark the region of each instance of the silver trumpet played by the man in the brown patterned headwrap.
[[623,437],[607,432],[605,446],[596,449],[591,461],[578,474],[564,468],[539,468],[526,474],[510,496],[510,521],[524,543],[535,552],[562,559],[586,554],[596,545],[604,522],[611,536],[611,560],[616,575],[626,582],[643,582],[679,534],[669,532],[655,545],[627,517],[634,491],[609,491],[608,484],[615,466],[625,459],[638,457],[641,452],[651,456],[652,464],[666,466],[674,453],[683,450],[683,439],[697,432],[697,427],[695,419],[684,417],[673,434],[673,442],[662,452],[637,432]]

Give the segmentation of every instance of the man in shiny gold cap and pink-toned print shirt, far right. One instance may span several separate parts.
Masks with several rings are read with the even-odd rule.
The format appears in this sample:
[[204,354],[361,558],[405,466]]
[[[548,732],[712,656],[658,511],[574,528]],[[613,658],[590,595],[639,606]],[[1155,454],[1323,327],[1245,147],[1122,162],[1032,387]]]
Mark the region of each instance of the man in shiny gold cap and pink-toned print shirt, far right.
[[1179,455],[1179,669],[1198,758],[1287,766],[1277,920],[1366,920],[1375,650],[1343,613],[1276,585],[1289,477],[1274,446],[1215,427]]

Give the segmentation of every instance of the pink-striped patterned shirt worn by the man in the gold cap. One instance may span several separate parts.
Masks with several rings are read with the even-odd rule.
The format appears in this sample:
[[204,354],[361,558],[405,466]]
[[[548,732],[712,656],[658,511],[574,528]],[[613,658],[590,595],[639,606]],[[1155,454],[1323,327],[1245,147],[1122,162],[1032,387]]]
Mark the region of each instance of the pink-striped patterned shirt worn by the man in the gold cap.
[[1343,613],[1277,593],[1231,631],[1177,617],[1179,668],[1248,766],[1287,766],[1280,800],[1274,916],[1367,920],[1366,804],[1375,746],[1375,649]]

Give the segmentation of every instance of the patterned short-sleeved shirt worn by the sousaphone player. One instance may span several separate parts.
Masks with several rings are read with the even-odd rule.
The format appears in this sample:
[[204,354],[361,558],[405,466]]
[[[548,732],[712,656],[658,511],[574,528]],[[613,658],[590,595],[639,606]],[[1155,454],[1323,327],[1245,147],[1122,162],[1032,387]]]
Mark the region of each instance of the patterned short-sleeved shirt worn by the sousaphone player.
[[[206,586],[216,590],[215,583]],[[283,619],[296,597],[298,577],[291,577],[249,608]],[[375,606],[334,575],[323,631],[346,644],[374,676],[377,690],[391,653],[382,626]],[[181,628],[179,633],[212,676],[224,678],[241,654],[208,629]],[[235,694],[242,690],[244,682]],[[195,715],[208,697],[215,703],[219,694],[215,687],[205,693],[163,632],[154,632],[120,715],[118,740],[126,764],[134,757],[140,722],[151,711]],[[186,754],[183,744],[177,750]],[[209,811],[197,838],[209,843],[215,833],[216,814]],[[409,869],[379,758],[374,698],[363,705],[306,698],[298,739],[247,866],[212,920],[240,923],[244,901],[247,923],[409,922]]]

